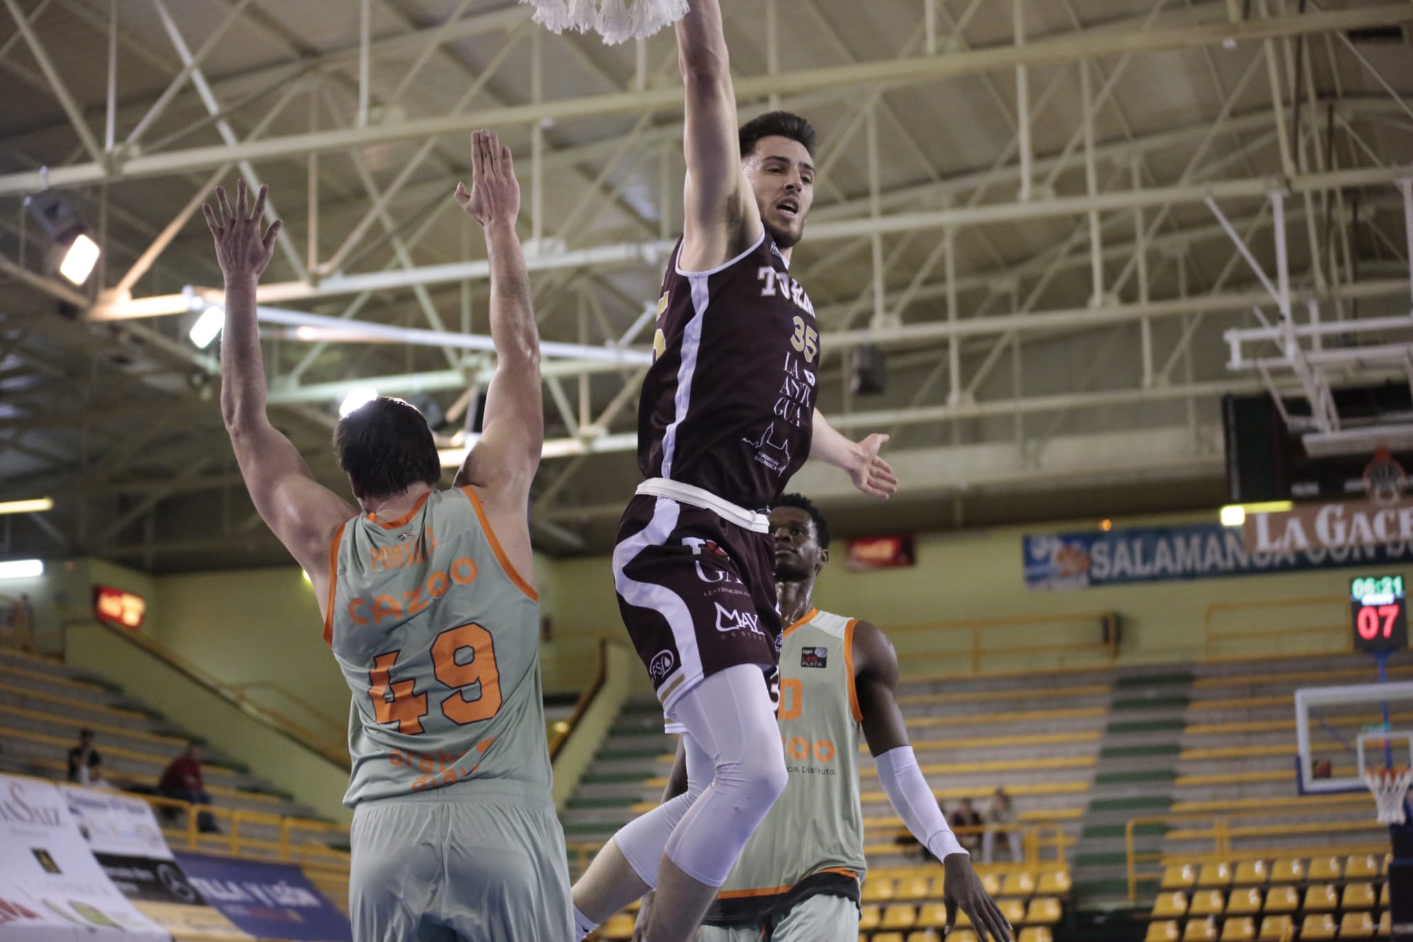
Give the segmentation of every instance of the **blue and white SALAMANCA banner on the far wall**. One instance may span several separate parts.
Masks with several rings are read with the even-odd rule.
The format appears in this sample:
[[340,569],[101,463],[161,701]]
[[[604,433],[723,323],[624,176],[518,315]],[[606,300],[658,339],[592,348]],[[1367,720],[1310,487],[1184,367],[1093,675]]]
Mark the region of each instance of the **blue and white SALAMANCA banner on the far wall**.
[[1027,535],[1022,555],[1027,589],[1089,589],[1407,564],[1413,542],[1251,552],[1241,527],[1193,524]]

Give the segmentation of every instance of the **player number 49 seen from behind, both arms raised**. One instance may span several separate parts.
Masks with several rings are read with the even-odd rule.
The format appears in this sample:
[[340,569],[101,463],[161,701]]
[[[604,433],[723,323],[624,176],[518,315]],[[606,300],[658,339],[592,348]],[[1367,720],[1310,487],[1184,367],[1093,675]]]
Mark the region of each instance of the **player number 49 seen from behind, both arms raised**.
[[485,431],[438,490],[421,412],[377,398],[333,436],[359,510],[319,486],[266,415],[256,284],[280,223],[218,189],[205,208],[226,277],[220,405],[260,517],[314,582],[324,638],[353,695],[355,942],[564,942],[564,832],[550,798],[538,603],[526,504],[544,439],[540,340],[516,234],[520,186],[495,134],[472,138],[496,373]]

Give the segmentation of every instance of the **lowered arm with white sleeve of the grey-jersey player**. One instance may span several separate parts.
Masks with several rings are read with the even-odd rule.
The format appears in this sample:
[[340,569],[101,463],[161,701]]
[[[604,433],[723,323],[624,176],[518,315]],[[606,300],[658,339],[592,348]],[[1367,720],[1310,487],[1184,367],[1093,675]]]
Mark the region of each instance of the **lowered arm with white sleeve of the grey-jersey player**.
[[863,739],[877,763],[883,794],[913,836],[947,869],[942,884],[947,932],[957,924],[957,910],[961,908],[971,917],[981,942],[988,938],[1009,942],[1010,924],[981,886],[971,867],[971,854],[947,825],[907,740],[903,710],[897,706],[897,652],[893,644],[876,626],[859,621],[853,627],[853,662]]

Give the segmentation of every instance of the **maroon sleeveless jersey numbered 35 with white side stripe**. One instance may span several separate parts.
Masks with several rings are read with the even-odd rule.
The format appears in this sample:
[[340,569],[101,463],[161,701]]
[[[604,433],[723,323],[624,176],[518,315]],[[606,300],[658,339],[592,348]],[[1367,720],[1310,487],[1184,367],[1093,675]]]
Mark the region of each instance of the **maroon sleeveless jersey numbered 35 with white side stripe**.
[[666,477],[760,510],[810,456],[820,333],[814,305],[769,234],[719,268],[678,267],[657,301],[637,458]]

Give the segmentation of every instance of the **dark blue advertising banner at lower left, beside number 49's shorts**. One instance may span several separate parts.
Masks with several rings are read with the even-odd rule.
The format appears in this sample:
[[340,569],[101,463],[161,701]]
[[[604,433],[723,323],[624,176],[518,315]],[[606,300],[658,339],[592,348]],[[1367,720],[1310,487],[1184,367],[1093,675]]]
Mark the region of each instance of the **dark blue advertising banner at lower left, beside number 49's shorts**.
[[177,852],[191,884],[232,922],[261,939],[349,942],[348,918],[292,863]]

